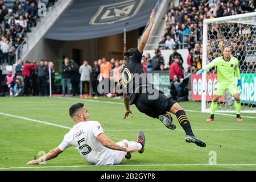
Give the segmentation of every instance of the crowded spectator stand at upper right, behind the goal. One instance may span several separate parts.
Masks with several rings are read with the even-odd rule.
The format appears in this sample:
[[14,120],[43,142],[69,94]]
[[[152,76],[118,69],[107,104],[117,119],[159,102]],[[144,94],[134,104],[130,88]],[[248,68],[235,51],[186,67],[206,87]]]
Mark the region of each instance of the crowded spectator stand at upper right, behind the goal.
[[[216,14],[214,14],[213,6],[216,7]],[[166,11],[164,21],[166,23],[163,35],[164,38],[171,36],[171,42],[175,42],[176,48],[188,48],[189,60],[192,65],[192,72],[195,73],[198,69],[201,69],[201,57],[202,57],[202,41],[203,41],[203,20],[209,18],[217,18],[221,16],[229,16],[236,14],[249,13],[248,7],[253,6],[253,1],[230,1],[230,0],[218,0],[218,1],[205,1],[205,0],[185,0],[179,1],[179,5],[175,7],[174,2],[170,3],[170,7]],[[225,26],[221,24],[220,26]],[[228,26],[226,26],[228,27]],[[212,55],[208,55],[208,61],[213,57],[221,55],[224,46],[232,48],[233,52],[236,49],[242,53],[238,55],[241,58],[245,55],[245,41],[239,38],[239,35],[228,36],[227,31],[218,31],[218,24],[215,27],[211,27],[209,31],[209,38],[217,38],[210,43],[209,49],[212,49]],[[223,27],[225,28],[225,27]],[[253,39],[251,39],[253,40]],[[165,42],[164,42],[165,41]],[[165,44],[163,44],[165,43]],[[163,49],[171,49],[168,46],[170,39],[163,39],[159,43],[159,47]],[[248,42],[247,42],[248,43]],[[251,45],[255,44],[250,42]],[[242,71],[255,72],[256,64],[247,65],[243,62],[244,59],[240,59],[240,69]]]

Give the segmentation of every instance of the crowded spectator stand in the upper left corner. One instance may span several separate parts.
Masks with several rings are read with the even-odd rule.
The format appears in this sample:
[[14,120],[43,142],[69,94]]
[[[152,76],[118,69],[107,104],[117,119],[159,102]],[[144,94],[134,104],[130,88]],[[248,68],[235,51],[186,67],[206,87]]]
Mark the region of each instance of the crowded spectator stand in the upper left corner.
[[6,0],[0,1],[0,65],[13,65],[15,63],[15,50],[20,46],[36,27],[39,20],[38,4],[44,3],[46,7],[54,5],[56,0]]

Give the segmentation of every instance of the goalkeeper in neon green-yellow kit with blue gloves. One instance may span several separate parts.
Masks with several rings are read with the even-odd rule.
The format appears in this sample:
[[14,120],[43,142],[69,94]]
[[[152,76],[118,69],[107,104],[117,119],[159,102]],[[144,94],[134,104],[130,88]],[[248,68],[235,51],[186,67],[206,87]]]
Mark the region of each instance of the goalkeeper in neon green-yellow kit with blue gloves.
[[[196,72],[196,75],[199,76],[200,73],[204,73],[210,68],[217,67],[217,86],[213,91],[213,100],[210,105],[210,118],[207,119],[208,122],[214,120],[214,113],[217,109],[218,98],[222,96],[225,90],[234,97],[234,106],[237,110],[237,121],[242,121],[240,116],[241,112],[241,101],[240,94],[238,91],[238,86],[242,89],[242,83],[240,78],[240,71],[238,68],[238,59],[236,57],[231,56],[231,51],[229,47],[225,47],[223,51],[223,56],[217,57],[208,65],[206,65],[203,69],[200,69]],[[234,73],[237,76],[237,83],[234,78]]]

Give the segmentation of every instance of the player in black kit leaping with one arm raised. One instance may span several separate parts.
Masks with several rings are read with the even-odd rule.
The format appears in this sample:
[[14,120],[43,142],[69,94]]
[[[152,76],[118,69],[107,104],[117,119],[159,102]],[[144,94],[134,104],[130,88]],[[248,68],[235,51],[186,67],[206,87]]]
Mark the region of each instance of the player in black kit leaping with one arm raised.
[[123,65],[119,76],[119,84],[122,86],[126,107],[124,119],[131,113],[130,105],[135,104],[139,111],[149,117],[159,118],[168,129],[174,130],[176,126],[172,122],[171,113],[173,113],[186,133],[185,141],[205,147],[206,144],[193,135],[190,122],[183,108],[161,90],[155,89],[154,85],[147,81],[146,73],[143,71],[141,58],[154,24],[154,13],[155,11],[152,10],[150,24],[144,32],[139,46],[124,52],[127,61]]

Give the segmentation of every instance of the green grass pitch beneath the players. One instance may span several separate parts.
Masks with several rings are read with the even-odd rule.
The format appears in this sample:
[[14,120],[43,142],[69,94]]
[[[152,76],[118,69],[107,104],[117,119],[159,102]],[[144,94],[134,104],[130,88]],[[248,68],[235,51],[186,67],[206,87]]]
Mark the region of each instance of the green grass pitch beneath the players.
[[[135,152],[130,160],[120,166],[92,166],[81,158],[74,147],[60,154],[45,165],[27,166],[28,160],[39,151],[48,152],[57,147],[68,129],[49,126],[18,117],[37,119],[72,127],[68,108],[83,102],[90,120],[99,121],[105,134],[114,142],[122,139],[136,140],[138,130],[146,135],[143,154]],[[186,143],[185,133],[174,122],[176,130],[168,130],[158,119],[139,113],[132,106],[133,114],[123,119],[125,107],[122,100],[99,98],[20,97],[0,98],[0,170],[255,170],[256,169],[256,115],[242,114],[243,122],[235,116],[216,115],[216,120],[205,122],[209,114],[200,112],[200,102],[181,102],[187,111],[196,137],[207,147],[200,148]],[[191,111],[195,110],[195,111]],[[234,114],[233,114],[234,115]],[[217,165],[209,165],[210,151],[216,152]],[[32,167],[32,168],[28,168]]]

